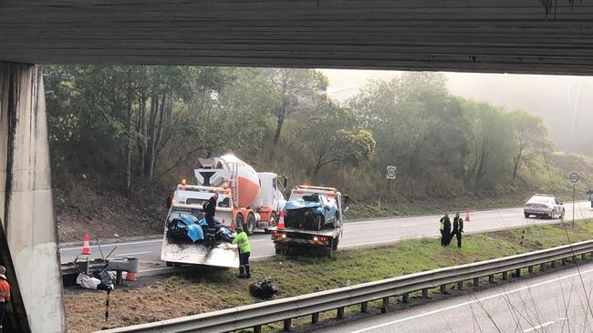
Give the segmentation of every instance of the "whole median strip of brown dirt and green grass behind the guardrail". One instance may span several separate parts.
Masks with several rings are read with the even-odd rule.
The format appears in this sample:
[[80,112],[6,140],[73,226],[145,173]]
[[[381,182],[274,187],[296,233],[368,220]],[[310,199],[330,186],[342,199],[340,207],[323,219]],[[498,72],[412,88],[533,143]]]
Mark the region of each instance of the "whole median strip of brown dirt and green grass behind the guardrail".
[[[521,245],[522,231],[525,240]],[[561,226],[477,234],[464,237],[463,248],[440,246],[436,239],[404,240],[391,247],[340,251],[333,258],[284,257],[253,262],[254,278],[235,278],[234,270],[209,270],[184,274],[139,288],[118,288],[111,294],[109,323],[104,322],[105,293],[69,288],[66,308],[69,332],[93,331],[167,318],[177,318],[222,308],[255,303],[248,286],[257,278],[271,277],[277,298],[322,289],[401,276],[426,269],[505,257],[530,250],[555,247],[593,236],[593,221],[577,222],[567,231]]]

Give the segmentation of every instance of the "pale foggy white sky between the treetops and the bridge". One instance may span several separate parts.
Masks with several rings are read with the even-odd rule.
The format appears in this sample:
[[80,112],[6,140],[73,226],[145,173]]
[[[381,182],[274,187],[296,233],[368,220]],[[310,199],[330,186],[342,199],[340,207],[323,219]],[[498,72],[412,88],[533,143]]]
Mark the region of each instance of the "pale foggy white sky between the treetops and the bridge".
[[[339,103],[396,71],[322,69]],[[453,95],[542,116],[557,150],[593,156],[593,77],[446,73]]]

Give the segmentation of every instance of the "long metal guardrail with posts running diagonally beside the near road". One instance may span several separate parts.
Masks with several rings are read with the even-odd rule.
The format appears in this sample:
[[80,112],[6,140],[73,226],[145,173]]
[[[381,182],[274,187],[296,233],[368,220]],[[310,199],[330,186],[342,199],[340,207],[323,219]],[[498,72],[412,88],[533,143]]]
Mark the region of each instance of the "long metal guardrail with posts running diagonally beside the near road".
[[474,286],[477,286],[480,278],[485,277],[493,283],[495,274],[502,274],[502,278],[506,279],[510,271],[515,271],[515,276],[521,277],[522,269],[525,267],[529,272],[533,272],[533,267],[536,265],[544,268],[546,263],[551,263],[551,266],[555,267],[558,260],[562,260],[564,264],[569,257],[579,255],[584,257],[591,252],[593,252],[593,240],[588,240],[511,257],[444,267],[293,298],[282,298],[101,332],[227,332],[243,328],[254,328],[255,332],[260,332],[262,325],[280,321],[284,321],[284,327],[287,330],[290,328],[292,318],[312,316],[311,320],[315,323],[319,318],[319,312],[334,309],[338,310],[338,318],[343,318],[345,307],[360,305],[361,310],[366,312],[369,301],[380,299],[383,300],[381,310],[386,312],[390,297],[402,297],[403,301],[407,302],[411,292],[421,291],[422,295],[427,297],[430,288],[441,288],[444,291],[448,284],[463,283],[468,280],[473,280]]

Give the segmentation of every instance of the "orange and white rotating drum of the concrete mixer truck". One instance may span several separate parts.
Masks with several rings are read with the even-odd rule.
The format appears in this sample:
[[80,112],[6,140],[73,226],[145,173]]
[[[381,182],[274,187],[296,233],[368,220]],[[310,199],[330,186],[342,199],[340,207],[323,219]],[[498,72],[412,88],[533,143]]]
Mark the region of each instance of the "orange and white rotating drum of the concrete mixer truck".
[[[259,194],[259,177],[255,169],[234,155],[219,157],[220,165],[231,172],[236,171],[239,180],[239,207],[249,207]],[[236,167],[235,167],[236,166]]]

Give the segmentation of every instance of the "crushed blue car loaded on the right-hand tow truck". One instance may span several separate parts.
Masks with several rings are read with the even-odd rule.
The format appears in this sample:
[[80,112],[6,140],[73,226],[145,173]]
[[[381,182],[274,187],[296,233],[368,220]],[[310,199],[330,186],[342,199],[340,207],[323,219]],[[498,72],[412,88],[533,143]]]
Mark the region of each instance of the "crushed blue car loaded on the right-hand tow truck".
[[313,194],[286,202],[286,227],[320,230],[336,227],[338,205],[336,200]]

